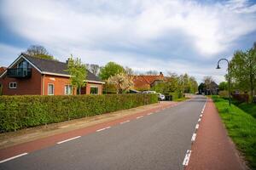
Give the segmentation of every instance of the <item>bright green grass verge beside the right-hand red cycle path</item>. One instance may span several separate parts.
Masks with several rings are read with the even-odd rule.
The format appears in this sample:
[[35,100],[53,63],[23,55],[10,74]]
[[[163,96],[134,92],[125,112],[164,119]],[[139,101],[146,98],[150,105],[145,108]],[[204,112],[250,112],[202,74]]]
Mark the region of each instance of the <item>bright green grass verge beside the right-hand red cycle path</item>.
[[[229,106],[228,100],[212,96],[229,136],[238,150],[244,154],[248,165],[256,169],[256,119],[236,105]],[[244,106],[246,107],[246,106]],[[250,107],[247,105],[247,107]],[[246,111],[252,109],[247,108]]]

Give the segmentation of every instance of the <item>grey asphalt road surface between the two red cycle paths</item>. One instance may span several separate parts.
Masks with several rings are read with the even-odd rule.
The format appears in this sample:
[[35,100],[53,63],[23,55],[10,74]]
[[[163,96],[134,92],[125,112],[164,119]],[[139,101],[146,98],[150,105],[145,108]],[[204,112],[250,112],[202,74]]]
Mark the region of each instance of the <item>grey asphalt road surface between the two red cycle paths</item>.
[[0,164],[0,169],[183,169],[186,150],[206,98]]

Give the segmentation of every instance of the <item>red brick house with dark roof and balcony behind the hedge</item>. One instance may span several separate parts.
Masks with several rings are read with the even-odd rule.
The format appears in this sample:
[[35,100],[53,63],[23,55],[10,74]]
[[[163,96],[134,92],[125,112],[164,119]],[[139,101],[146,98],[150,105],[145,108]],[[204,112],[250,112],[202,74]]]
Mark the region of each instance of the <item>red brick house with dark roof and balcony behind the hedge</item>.
[[[67,62],[38,59],[20,54],[0,76],[3,95],[67,95],[77,94],[67,72]],[[86,86],[81,94],[102,94],[102,82],[87,71]]]

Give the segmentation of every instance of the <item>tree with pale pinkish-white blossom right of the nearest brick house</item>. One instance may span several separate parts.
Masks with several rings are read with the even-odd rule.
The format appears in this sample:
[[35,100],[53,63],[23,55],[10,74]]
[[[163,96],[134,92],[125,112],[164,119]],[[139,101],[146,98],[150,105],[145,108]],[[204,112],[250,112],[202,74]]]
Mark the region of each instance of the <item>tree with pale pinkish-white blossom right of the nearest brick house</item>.
[[117,94],[122,94],[125,90],[129,90],[133,86],[132,77],[129,77],[124,72],[109,77],[108,83],[115,86]]

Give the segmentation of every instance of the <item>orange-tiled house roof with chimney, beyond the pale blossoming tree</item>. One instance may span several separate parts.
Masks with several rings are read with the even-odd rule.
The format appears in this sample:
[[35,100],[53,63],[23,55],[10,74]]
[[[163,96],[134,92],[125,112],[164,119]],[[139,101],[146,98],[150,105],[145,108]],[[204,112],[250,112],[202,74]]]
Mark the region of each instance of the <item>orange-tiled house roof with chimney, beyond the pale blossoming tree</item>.
[[159,75],[140,75],[133,76],[134,89],[136,90],[149,90],[156,84],[163,82],[165,77],[162,72]]

